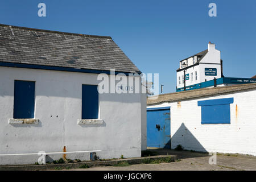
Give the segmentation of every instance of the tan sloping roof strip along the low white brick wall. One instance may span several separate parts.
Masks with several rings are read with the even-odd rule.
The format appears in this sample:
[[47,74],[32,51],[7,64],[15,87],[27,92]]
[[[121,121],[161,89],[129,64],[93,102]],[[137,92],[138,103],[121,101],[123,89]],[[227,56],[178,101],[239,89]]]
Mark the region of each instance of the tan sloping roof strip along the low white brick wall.
[[203,88],[203,89],[187,90],[182,92],[160,94],[159,96],[151,96],[150,97],[151,99],[147,98],[147,105],[160,104],[163,102],[179,102],[183,100],[190,100],[193,98],[216,96],[219,94],[239,92],[241,90],[256,90],[256,83],[232,85],[232,86],[217,86],[213,88]]

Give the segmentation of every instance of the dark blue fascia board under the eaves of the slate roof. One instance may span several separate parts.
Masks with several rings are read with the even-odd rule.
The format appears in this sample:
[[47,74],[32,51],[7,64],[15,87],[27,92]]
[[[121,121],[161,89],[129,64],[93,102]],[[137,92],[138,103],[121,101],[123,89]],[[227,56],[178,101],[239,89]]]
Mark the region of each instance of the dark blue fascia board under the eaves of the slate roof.
[[[35,64],[22,64],[22,63],[7,63],[0,62],[0,67],[13,67],[13,68],[31,68],[31,69],[46,69],[54,71],[66,71],[66,72],[79,72],[79,73],[106,73],[110,75],[110,71],[96,70],[96,69],[79,69],[79,68],[67,68],[67,67],[53,67],[46,65],[35,65]],[[128,72],[115,72],[115,75],[118,73],[124,73],[126,76],[129,76]],[[138,73],[141,74],[141,73]]]

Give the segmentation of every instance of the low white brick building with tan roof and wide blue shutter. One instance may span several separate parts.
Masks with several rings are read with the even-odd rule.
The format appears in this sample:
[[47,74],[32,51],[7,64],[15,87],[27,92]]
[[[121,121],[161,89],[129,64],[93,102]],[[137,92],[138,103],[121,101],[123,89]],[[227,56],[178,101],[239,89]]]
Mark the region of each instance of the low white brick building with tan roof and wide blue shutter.
[[[180,144],[185,150],[256,156],[255,96],[256,84],[168,93],[148,99],[147,113],[170,113],[172,149]],[[155,125],[160,121],[155,122],[147,131],[159,132]]]

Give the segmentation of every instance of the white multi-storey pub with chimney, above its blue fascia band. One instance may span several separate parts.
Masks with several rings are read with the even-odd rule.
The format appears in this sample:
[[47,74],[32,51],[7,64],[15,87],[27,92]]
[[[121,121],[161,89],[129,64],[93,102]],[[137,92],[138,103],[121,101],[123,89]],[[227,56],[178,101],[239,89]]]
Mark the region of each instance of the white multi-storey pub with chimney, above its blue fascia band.
[[[185,65],[185,66],[184,66]],[[209,43],[208,49],[196,53],[187,59],[180,61],[177,69],[177,89],[185,86],[199,84],[201,82],[222,77],[222,61],[220,51],[215,48],[215,44]]]

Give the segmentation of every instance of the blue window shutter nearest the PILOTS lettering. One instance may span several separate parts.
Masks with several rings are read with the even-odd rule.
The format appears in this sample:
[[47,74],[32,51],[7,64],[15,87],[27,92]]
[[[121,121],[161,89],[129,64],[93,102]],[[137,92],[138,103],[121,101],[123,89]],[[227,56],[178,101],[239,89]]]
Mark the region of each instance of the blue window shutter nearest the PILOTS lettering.
[[98,85],[82,85],[82,119],[98,119]]

